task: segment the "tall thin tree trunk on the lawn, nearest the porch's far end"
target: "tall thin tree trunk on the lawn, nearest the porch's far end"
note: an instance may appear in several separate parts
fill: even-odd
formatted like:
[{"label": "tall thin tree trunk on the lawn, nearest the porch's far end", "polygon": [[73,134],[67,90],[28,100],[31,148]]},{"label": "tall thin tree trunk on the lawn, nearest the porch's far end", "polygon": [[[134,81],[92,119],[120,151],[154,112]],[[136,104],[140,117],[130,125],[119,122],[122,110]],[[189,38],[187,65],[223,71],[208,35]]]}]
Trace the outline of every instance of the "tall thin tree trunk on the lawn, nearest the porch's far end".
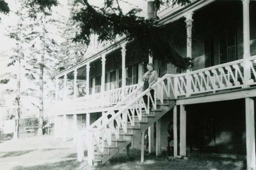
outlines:
[{"label": "tall thin tree trunk on the lawn, nearest the porch's far end", "polygon": [[43,135],[43,71],[45,60],[45,16],[43,16],[43,33],[42,33],[42,51],[40,62],[40,75],[39,75],[39,127],[38,136]]}]

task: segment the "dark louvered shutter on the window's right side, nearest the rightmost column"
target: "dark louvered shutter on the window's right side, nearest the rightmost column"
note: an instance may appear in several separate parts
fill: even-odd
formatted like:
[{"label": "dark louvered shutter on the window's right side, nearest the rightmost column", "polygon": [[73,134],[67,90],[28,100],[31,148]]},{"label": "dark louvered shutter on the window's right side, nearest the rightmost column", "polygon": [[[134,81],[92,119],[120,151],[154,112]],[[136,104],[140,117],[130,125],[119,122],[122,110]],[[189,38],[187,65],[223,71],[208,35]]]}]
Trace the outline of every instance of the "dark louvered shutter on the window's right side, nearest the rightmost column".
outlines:
[{"label": "dark louvered shutter on the window's right side, nearest the rightmost column", "polygon": [[228,45],[228,62],[237,60],[236,51],[236,31],[235,29],[227,32],[227,45]]}]

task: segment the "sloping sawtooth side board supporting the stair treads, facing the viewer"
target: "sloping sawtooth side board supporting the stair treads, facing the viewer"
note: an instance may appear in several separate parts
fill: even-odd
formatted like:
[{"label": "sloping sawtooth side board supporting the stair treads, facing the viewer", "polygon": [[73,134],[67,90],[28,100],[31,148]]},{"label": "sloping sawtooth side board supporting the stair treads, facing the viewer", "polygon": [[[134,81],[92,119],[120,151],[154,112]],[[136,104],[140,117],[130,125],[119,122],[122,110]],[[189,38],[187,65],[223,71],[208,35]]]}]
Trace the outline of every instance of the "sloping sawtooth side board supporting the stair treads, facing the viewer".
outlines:
[{"label": "sloping sawtooth side board supporting the stair treads, facing the viewer", "polygon": [[[141,136],[141,133],[145,131],[149,126],[154,124],[158,119],[160,119],[162,116],[164,116],[169,110],[171,110],[176,105],[176,102],[174,100],[169,100],[168,106],[161,106],[162,111],[152,111],[155,112],[154,117],[148,117],[147,123],[142,123],[140,125],[140,129],[133,129],[133,136],[131,138],[126,139],[125,142],[118,142],[117,148],[111,148],[109,151],[109,155],[102,155],[102,165],[106,163],[109,159],[111,159],[115,154],[117,154],[119,151],[121,151],[124,147],[126,147],[130,142],[132,142],[135,138],[138,136]],[[119,145],[120,143],[120,145]]]}]

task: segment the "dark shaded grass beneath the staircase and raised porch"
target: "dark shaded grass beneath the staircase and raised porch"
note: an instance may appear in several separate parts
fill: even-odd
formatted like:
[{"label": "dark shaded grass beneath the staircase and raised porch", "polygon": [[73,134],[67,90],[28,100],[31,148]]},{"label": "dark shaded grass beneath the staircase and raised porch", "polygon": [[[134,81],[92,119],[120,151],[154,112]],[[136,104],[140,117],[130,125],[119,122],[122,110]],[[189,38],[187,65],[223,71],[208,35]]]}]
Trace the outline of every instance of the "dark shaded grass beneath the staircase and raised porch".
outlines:
[{"label": "dark shaded grass beneath the staircase and raised porch", "polygon": [[144,162],[140,162],[140,150],[130,149],[129,158],[126,151],[116,154],[106,165],[99,165],[94,170],[113,169],[175,169],[175,170],[246,170],[246,160],[223,158],[212,155],[190,155],[189,159],[168,159],[166,155],[155,156],[145,152]]}]

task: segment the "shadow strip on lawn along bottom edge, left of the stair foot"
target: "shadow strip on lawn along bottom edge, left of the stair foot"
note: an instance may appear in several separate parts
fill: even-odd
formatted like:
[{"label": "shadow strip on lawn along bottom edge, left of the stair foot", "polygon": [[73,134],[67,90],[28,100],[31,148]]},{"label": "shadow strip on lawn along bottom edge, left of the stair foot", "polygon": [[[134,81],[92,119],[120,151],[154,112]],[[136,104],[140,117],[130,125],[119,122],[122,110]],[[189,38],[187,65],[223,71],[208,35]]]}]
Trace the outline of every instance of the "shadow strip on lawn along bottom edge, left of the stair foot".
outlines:
[{"label": "shadow strip on lawn along bottom edge, left of the stair foot", "polygon": [[76,160],[60,161],[56,163],[44,163],[35,166],[15,166],[13,170],[74,170],[80,167]]}]

